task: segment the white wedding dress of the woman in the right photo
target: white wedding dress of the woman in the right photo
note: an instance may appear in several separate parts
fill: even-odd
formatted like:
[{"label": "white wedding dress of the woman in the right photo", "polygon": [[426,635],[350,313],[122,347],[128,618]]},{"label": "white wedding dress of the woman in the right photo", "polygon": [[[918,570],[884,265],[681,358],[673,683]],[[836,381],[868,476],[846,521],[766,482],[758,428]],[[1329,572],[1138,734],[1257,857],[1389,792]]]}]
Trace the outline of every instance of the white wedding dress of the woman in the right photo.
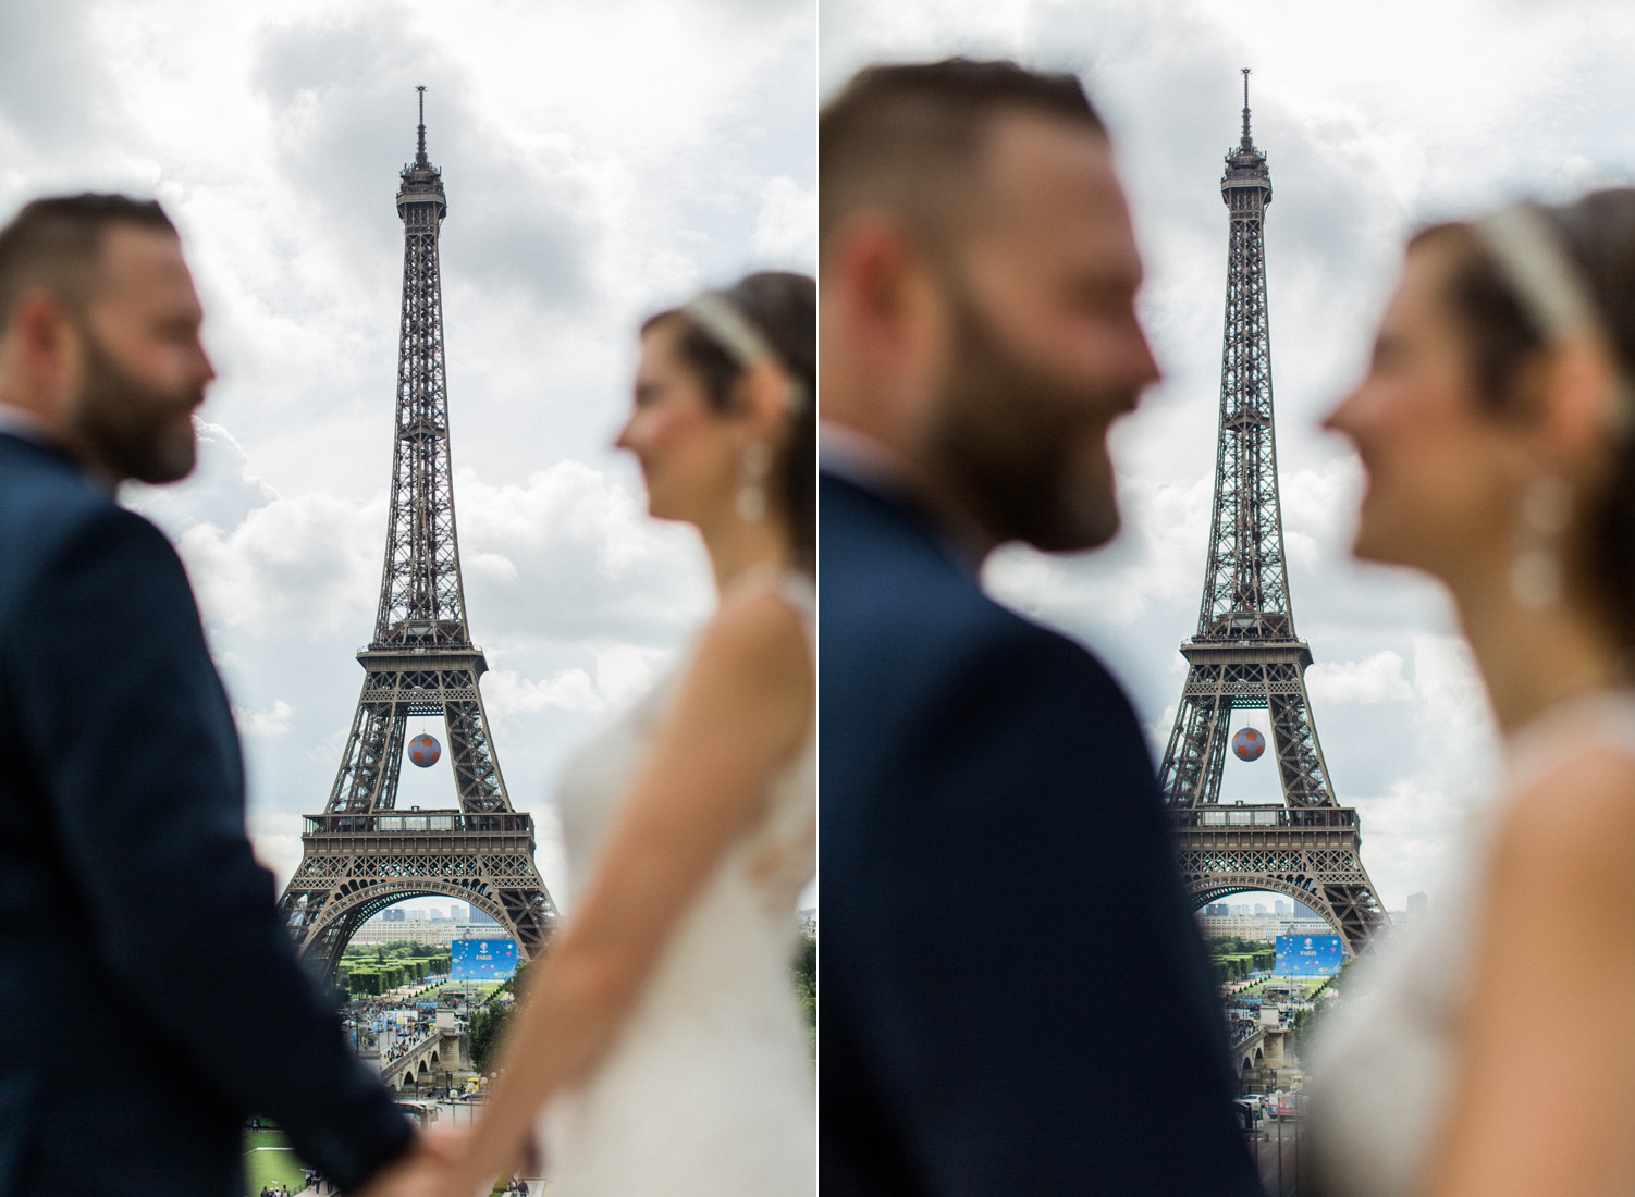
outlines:
[{"label": "white wedding dress of the woman in the right photo", "polygon": [[1635,757],[1635,695],[1563,703],[1512,736],[1499,795],[1467,829],[1462,876],[1422,926],[1357,963],[1352,988],[1362,996],[1346,999],[1310,1051],[1321,1197],[1413,1197],[1422,1187],[1452,1096],[1454,1040],[1488,908],[1491,831],[1514,795],[1589,747]]}]

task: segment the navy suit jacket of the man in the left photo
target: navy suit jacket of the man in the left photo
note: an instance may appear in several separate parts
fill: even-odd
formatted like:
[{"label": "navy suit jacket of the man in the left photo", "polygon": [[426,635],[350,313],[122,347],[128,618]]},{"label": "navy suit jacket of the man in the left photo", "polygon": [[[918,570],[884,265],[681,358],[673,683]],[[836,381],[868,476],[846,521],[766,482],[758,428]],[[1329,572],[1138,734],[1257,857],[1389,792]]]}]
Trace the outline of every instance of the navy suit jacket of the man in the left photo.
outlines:
[{"label": "navy suit jacket of the man in the left photo", "polygon": [[343,1187],[407,1146],[275,903],[175,551],[0,433],[0,1195],[242,1197],[249,1114]]}]

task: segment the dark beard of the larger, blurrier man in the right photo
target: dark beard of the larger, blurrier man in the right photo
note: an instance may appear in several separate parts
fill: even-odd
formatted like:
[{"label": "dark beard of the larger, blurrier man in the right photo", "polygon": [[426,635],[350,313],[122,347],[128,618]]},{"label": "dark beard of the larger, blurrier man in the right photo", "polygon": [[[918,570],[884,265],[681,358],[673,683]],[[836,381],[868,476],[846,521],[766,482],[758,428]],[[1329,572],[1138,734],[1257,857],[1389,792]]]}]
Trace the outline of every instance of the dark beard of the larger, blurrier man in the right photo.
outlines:
[{"label": "dark beard of the larger, blurrier man in the right photo", "polygon": [[1105,545],[1118,531],[1105,424],[1136,394],[1040,368],[956,285],[945,283],[945,296],[955,348],[925,437],[937,479],[996,543],[1051,553]]}]

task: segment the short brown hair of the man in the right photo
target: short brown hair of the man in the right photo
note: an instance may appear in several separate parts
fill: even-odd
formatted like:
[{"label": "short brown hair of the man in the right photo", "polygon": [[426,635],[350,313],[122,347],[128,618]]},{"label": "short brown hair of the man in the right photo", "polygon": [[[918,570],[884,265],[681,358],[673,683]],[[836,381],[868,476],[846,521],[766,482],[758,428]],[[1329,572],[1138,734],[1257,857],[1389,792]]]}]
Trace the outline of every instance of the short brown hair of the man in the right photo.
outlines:
[{"label": "short brown hair of the man in the right photo", "polygon": [[983,136],[1006,113],[1055,116],[1105,136],[1077,77],[1015,62],[865,67],[818,119],[818,237],[881,208],[932,242],[974,198]]}]

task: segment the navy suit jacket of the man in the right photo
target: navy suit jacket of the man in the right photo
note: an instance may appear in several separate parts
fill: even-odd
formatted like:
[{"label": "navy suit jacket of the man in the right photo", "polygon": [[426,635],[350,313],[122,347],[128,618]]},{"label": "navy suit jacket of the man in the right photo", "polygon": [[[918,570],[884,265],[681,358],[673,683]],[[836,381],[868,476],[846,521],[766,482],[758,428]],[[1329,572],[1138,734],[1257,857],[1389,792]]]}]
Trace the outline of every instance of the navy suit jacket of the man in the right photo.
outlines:
[{"label": "navy suit jacket of the man in the right photo", "polygon": [[818,577],[824,1194],[1259,1194],[1118,685],[829,474]]}]

